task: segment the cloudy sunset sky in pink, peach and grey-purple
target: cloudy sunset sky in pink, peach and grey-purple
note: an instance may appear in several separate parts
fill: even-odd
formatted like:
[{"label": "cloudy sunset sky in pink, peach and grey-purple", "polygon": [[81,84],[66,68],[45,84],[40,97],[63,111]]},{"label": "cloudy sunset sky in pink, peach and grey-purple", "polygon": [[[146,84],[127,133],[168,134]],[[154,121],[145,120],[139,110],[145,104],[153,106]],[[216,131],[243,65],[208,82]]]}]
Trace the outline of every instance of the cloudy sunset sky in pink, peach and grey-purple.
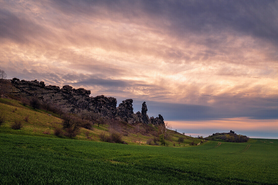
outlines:
[{"label": "cloudy sunset sky in pink, peach and grey-purple", "polygon": [[146,101],[187,135],[278,139],[278,1],[3,1],[8,78]]}]

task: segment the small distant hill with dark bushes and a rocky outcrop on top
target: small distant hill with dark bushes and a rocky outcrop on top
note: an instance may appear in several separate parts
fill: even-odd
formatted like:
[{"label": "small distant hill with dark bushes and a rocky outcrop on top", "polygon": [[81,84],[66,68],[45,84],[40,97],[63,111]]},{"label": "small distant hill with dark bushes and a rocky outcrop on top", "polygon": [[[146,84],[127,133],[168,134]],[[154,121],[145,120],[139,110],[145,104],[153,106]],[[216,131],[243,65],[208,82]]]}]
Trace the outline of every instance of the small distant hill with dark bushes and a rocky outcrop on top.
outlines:
[{"label": "small distant hill with dark bushes and a rocky outcrop on top", "polygon": [[241,134],[236,134],[234,131],[215,133],[212,136],[205,137],[204,139],[210,141],[226,141],[226,142],[247,142],[249,137],[243,136]]}]

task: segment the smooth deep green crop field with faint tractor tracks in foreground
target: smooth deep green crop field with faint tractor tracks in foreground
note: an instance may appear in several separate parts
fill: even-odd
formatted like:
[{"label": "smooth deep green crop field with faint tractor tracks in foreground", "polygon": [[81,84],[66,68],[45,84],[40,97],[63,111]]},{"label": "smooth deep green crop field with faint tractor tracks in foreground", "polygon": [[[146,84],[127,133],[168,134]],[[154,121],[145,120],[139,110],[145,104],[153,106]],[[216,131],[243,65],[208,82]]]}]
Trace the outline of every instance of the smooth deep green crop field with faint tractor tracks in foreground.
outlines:
[{"label": "smooth deep green crop field with faint tractor tracks in foreground", "polygon": [[155,147],[0,134],[0,184],[278,184],[278,140]]}]

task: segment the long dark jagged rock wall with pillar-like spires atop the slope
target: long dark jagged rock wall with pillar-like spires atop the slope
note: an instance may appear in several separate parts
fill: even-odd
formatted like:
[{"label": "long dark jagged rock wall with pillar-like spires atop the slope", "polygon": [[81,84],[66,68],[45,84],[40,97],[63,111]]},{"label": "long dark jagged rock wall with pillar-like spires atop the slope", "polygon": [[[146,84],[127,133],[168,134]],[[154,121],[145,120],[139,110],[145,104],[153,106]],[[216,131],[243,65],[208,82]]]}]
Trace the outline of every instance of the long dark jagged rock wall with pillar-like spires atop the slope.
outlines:
[{"label": "long dark jagged rock wall with pillar-like spires atop the slope", "polygon": [[117,100],[113,97],[105,97],[103,95],[90,97],[91,91],[84,88],[73,89],[69,85],[63,86],[46,86],[44,82],[37,80],[25,81],[14,78],[8,80],[11,83],[11,94],[18,97],[36,96],[40,100],[48,100],[53,104],[64,106],[69,112],[78,112],[78,109],[84,109],[94,113],[100,113],[106,117],[120,117],[124,121],[133,124],[142,122],[145,124],[164,124],[163,117],[149,119],[147,115],[146,102],[142,104],[142,114],[137,112],[134,114],[132,107],[132,99],[122,101],[117,107]]}]

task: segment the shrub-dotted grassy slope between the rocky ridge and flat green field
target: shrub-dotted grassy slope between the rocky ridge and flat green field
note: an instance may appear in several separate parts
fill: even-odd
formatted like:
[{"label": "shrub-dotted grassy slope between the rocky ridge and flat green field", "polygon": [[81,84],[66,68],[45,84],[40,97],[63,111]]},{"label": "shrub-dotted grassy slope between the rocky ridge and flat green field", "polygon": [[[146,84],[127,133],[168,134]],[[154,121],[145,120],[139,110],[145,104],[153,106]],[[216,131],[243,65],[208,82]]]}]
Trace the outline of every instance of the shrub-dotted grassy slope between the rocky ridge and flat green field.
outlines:
[{"label": "shrub-dotted grassy slope between the rocky ridge and flat green field", "polygon": [[[13,99],[12,99],[13,98]],[[59,137],[59,138],[68,138],[72,139],[81,139],[81,140],[90,140],[90,141],[102,141],[100,138],[101,132],[104,132],[106,136],[110,135],[110,131],[114,130],[121,135],[122,141],[119,143],[127,143],[134,145],[161,145],[159,142],[159,135],[162,134],[162,131],[165,131],[165,128],[158,128],[152,124],[128,124],[125,121],[122,121],[117,118],[105,119],[105,122],[102,124],[99,122],[99,114],[91,114],[90,112],[87,116],[80,116],[80,114],[66,114],[65,111],[58,112],[59,107],[63,105],[52,105],[52,108],[48,112],[41,106],[41,109],[33,109],[28,104],[23,105],[21,98],[13,97],[11,98],[0,98],[0,110],[3,111],[4,122],[0,126],[0,133],[7,134],[20,134],[20,135],[29,135],[29,136],[41,136],[41,137]],[[49,116],[51,115],[51,116]],[[79,129],[63,129],[63,118],[64,115],[69,115],[73,120],[79,120]],[[61,117],[61,118],[60,118]],[[26,121],[28,118],[28,121]],[[14,121],[21,121],[24,123],[24,127],[21,130],[11,129],[11,124]],[[100,124],[99,124],[100,123]],[[164,129],[163,129],[164,128]],[[45,134],[47,131],[48,134]],[[89,133],[89,135],[87,134]],[[195,144],[201,140],[182,135],[180,133],[175,133],[172,130],[166,130],[163,132],[165,139],[165,146],[173,147],[174,143],[176,147],[189,146],[188,144],[194,140]],[[183,137],[183,142],[178,142],[179,137]],[[114,137],[115,138],[115,137]],[[150,140],[150,142],[148,142]],[[108,139],[104,141],[118,142],[115,139]]]}]

